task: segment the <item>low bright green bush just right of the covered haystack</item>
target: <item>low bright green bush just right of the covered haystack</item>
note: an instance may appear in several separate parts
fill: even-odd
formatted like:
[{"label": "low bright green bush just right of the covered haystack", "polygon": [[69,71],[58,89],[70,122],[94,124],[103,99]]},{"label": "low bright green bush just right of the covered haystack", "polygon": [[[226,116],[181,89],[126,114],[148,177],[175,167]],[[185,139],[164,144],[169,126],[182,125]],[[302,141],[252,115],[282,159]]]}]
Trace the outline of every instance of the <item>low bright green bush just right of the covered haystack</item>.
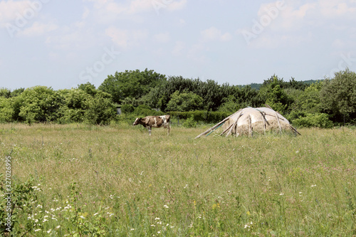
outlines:
[{"label": "low bright green bush just right of the covered haystack", "polygon": [[298,127],[333,127],[333,122],[329,120],[329,115],[325,113],[306,114],[305,117],[300,117],[292,122],[293,125]]}]

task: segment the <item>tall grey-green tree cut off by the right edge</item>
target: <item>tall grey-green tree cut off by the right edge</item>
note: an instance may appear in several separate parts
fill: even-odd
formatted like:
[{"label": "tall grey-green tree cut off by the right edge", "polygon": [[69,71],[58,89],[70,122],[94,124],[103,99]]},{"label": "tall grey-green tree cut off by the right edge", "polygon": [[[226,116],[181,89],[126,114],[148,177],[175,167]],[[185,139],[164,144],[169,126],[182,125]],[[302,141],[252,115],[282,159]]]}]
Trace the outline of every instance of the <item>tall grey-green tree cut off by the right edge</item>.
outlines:
[{"label": "tall grey-green tree cut off by the right edge", "polygon": [[349,122],[356,117],[356,73],[346,68],[335,73],[335,78],[324,81],[320,90],[323,109],[335,121]]}]

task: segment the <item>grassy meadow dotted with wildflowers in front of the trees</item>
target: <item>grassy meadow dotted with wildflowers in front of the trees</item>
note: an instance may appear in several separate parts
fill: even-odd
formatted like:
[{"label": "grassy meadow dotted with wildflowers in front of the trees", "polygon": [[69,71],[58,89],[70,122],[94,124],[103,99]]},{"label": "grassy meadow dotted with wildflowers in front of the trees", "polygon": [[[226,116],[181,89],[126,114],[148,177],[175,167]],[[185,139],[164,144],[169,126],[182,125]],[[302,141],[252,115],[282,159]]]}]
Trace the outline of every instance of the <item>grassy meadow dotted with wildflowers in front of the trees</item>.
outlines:
[{"label": "grassy meadow dotted with wildflowers in front of the trees", "polygon": [[194,139],[204,130],[0,125],[1,179],[11,157],[11,189],[30,197],[13,231],[356,236],[355,129]]}]

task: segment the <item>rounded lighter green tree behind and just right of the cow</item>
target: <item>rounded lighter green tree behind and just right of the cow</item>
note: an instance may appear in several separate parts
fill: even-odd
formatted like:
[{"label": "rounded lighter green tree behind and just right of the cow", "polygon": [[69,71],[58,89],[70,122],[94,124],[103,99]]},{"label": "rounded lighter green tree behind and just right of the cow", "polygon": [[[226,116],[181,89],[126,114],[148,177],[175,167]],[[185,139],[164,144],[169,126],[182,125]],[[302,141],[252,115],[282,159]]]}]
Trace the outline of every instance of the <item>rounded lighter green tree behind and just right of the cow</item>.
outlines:
[{"label": "rounded lighter green tree behind and just right of the cow", "polygon": [[167,105],[167,110],[172,111],[193,111],[201,110],[203,98],[192,92],[179,93],[177,90],[172,94]]}]

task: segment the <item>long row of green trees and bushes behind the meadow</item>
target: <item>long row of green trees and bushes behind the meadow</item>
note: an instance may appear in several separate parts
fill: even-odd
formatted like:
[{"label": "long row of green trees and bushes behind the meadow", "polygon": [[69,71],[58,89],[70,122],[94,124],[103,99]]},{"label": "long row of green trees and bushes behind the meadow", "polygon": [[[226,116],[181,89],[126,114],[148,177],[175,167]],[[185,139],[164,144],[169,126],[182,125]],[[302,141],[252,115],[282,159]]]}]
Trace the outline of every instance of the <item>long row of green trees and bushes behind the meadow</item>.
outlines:
[{"label": "long row of green trees and bushes behind the meadow", "polygon": [[218,120],[240,108],[265,104],[297,126],[355,124],[356,73],[346,68],[334,78],[311,84],[272,75],[256,89],[251,85],[219,85],[214,80],[167,77],[154,70],[126,70],[108,75],[98,88],[90,83],[64,90],[45,86],[14,91],[2,88],[0,122],[108,124],[120,120],[117,106],[126,115],[159,110],[192,117],[199,114],[201,120],[216,122],[207,121],[208,114],[219,115],[215,116]]}]

